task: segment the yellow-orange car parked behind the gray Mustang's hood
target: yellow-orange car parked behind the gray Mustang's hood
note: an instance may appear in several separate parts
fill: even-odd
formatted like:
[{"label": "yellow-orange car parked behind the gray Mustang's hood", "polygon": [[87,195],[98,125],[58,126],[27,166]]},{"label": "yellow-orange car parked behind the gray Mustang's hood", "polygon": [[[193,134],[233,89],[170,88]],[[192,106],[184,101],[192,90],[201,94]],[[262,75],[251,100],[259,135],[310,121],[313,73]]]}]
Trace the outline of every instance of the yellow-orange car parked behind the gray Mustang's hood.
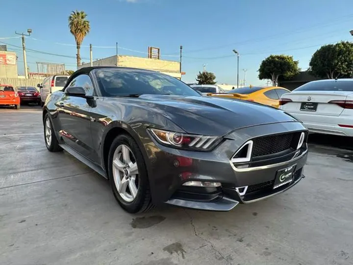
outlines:
[{"label": "yellow-orange car parked behind the gray Mustang's hood", "polygon": [[207,96],[248,100],[279,108],[279,99],[285,93],[290,93],[290,90],[279,86],[247,86],[235,88],[226,93],[209,93]]}]

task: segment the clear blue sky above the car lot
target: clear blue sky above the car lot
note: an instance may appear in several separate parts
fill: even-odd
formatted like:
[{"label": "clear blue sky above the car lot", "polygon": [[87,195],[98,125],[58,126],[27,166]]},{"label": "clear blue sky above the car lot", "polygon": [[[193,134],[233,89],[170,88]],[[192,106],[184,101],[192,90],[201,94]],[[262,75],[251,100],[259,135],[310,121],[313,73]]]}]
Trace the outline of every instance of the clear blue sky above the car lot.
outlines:
[{"label": "clear blue sky above the car lot", "polygon": [[[49,3],[50,2],[50,3]],[[20,0],[1,4],[0,38],[16,36],[32,28],[27,49],[75,56],[76,47],[67,22],[72,10],[84,10],[91,32],[83,46],[119,46],[119,54],[147,56],[148,46],[159,47],[162,58],[178,60],[183,45],[184,81],[192,82],[202,65],[220,83],[236,84],[236,57],[240,53],[240,79],[247,69],[247,84],[257,79],[261,61],[270,54],[289,54],[306,69],[312,53],[321,45],[352,40],[352,0]],[[21,39],[0,39],[21,46]],[[60,43],[60,44],[58,44]],[[2,44],[2,43],[0,43]],[[66,44],[66,45],[62,45]],[[14,50],[23,61],[21,50]],[[114,55],[115,48],[94,48],[93,57]],[[81,48],[88,62],[89,48]],[[65,63],[75,70],[75,58],[27,53],[30,71],[36,61]],[[19,63],[23,73],[23,63]]]}]

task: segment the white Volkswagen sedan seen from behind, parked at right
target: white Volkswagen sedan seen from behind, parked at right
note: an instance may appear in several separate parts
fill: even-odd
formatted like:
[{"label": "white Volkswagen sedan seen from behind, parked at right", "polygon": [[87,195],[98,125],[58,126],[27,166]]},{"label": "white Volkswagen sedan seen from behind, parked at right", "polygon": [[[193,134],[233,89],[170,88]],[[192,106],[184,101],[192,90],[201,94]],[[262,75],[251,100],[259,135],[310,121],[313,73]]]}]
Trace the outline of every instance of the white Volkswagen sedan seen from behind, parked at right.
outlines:
[{"label": "white Volkswagen sedan seen from behind, parked at right", "polygon": [[308,82],[283,94],[280,105],[310,132],[353,136],[353,79]]}]

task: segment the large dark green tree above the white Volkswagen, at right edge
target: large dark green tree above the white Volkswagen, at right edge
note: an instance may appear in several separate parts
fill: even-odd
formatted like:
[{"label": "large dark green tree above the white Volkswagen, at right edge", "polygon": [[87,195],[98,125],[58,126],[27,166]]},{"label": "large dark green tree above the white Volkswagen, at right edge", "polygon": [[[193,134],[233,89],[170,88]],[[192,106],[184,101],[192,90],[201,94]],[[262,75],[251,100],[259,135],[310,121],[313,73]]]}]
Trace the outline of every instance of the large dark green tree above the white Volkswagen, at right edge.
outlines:
[{"label": "large dark green tree above the white Volkswagen, at right edge", "polygon": [[353,43],[342,41],[322,46],[311,57],[309,71],[319,78],[346,78],[352,75]]}]

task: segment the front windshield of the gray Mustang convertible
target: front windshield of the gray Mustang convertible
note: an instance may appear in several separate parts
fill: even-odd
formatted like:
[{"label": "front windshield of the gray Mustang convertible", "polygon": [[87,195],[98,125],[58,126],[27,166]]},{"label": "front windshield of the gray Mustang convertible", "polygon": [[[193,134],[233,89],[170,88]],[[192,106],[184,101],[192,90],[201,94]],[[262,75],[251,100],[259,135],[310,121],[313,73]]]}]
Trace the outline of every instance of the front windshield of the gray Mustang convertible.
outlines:
[{"label": "front windshield of the gray Mustang convertible", "polygon": [[187,84],[174,77],[158,72],[107,68],[97,70],[96,76],[102,94],[105,97],[134,94],[167,94],[200,97],[200,94]]}]

